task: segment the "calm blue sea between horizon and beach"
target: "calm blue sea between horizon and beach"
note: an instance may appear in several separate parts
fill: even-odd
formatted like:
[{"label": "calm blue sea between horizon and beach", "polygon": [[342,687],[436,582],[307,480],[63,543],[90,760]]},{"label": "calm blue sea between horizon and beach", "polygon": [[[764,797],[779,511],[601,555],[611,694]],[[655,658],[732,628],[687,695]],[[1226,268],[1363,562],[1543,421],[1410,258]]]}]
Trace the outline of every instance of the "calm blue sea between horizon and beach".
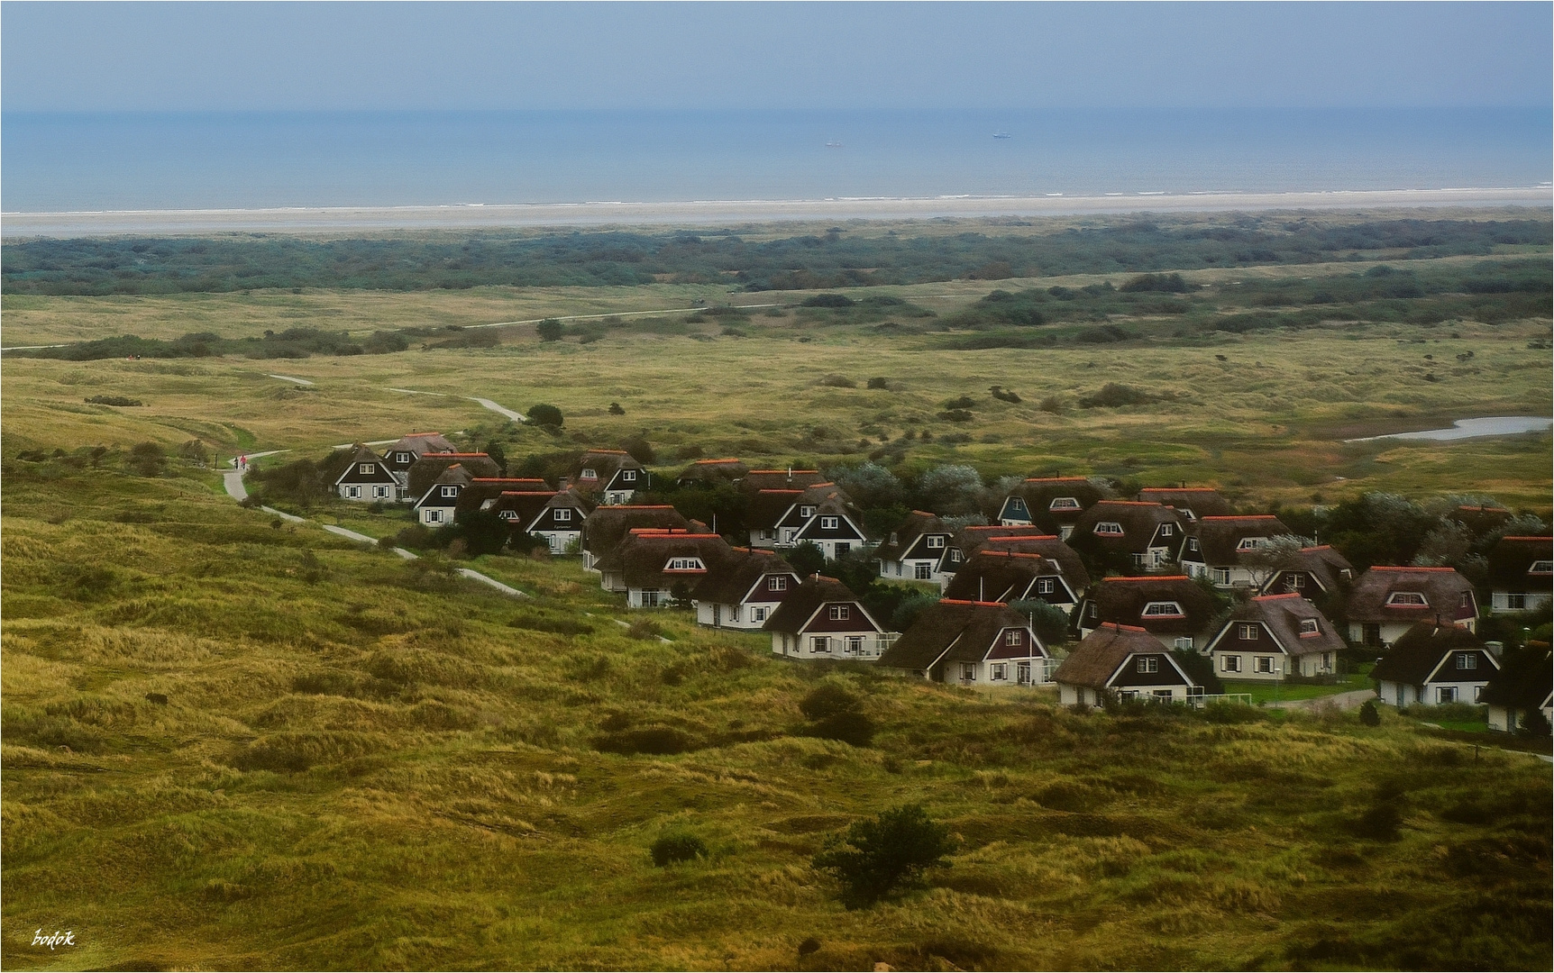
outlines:
[{"label": "calm blue sea between horizon and beach", "polygon": [[0,210],[1546,187],[1551,145],[1548,109],[6,112]]}]

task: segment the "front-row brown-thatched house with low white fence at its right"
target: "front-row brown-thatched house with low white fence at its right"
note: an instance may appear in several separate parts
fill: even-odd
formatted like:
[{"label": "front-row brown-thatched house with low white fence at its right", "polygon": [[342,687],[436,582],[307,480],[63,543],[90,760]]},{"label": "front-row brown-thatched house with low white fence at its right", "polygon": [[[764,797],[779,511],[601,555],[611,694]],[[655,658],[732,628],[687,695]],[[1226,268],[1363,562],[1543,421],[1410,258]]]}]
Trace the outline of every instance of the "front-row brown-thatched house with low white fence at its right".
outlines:
[{"label": "front-row brown-thatched house with low white fence at its right", "polygon": [[1203,685],[1136,625],[1106,622],[1085,636],[1052,673],[1063,706],[1102,706],[1108,695],[1124,699],[1187,703]]}]

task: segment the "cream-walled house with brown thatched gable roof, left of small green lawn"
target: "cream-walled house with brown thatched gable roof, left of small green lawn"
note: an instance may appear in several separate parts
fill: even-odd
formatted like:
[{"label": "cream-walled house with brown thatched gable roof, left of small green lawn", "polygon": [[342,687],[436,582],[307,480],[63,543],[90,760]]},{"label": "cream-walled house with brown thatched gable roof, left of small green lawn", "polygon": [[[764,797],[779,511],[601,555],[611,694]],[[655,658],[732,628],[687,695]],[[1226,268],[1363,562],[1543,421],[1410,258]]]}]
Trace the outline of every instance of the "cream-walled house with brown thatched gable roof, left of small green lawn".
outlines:
[{"label": "cream-walled house with brown thatched gable roof, left of small green lawn", "polygon": [[1296,594],[1240,602],[1207,653],[1221,679],[1332,676],[1344,640],[1321,611]]}]

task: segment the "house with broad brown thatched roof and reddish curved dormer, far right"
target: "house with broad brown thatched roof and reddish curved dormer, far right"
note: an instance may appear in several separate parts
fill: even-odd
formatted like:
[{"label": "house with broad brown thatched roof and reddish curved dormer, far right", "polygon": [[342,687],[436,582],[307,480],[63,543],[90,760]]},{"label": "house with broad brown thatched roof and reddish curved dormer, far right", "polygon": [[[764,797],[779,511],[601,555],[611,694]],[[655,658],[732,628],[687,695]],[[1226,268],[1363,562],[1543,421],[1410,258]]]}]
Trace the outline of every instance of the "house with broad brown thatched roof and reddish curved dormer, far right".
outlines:
[{"label": "house with broad brown thatched roof and reddish curved dormer, far right", "polygon": [[1478,595],[1451,567],[1377,566],[1355,578],[1346,616],[1349,642],[1386,648],[1419,622],[1476,631]]}]

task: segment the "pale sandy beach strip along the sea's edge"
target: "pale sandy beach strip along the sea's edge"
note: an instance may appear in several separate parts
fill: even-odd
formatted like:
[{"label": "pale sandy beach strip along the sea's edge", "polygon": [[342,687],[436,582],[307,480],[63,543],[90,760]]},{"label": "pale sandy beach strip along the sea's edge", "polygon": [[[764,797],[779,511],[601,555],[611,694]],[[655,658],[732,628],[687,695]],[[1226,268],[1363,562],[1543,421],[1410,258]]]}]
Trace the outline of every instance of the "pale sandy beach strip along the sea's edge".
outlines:
[{"label": "pale sandy beach strip along the sea's edge", "polygon": [[1549,187],[1190,193],[1106,196],[940,196],[788,201],[578,202],[438,207],[284,207],[253,210],[101,210],[0,213],[0,236],[127,233],[331,233],[547,225],[701,225],[805,219],[940,219],[1228,210],[1549,207]]}]

